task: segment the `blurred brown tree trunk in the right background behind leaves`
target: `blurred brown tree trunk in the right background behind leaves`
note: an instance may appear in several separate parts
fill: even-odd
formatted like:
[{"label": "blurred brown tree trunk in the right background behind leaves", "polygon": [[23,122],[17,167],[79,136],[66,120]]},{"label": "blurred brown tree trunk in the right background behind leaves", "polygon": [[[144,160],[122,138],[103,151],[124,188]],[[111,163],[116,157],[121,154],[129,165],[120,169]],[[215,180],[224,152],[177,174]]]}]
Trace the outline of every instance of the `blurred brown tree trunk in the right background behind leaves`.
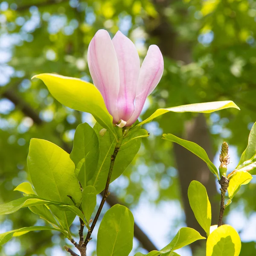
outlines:
[{"label": "blurred brown tree trunk in the right background behind leaves", "polygon": [[[146,29],[152,38],[157,39],[157,45],[160,47],[163,55],[188,64],[192,62],[191,44],[189,44],[189,42],[179,41],[179,35],[174,31],[172,24],[164,15],[164,9],[168,5],[171,6],[174,2],[175,1],[172,0],[154,0],[160,17],[157,17],[155,21],[149,18],[148,22],[145,22],[148,24],[146,25]],[[186,10],[181,9],[180,13],[181,15],[186,15]],[[212,143],[206,119],[203,114],[198,115],[194,120],[185,124],[183,138],[201,145],[201,147],[207,151],[209,158],[213,160]],[[192,180],[198,180],[206,186],[212,204],[212,220],[213,223],[216,223],[218,220],[219,204],[214,200],[217,193],[215,177],[209,171],[206,163],[176,143],[174,143],[174,153],[180,180],[181,196],[186,214],[186,223],[188,227],[195,228],[201,234],[205,235],[189,206],[187,190]],[[200,241],[192,244],[193,252],[195,252],[195,248],[199,244]]]}]

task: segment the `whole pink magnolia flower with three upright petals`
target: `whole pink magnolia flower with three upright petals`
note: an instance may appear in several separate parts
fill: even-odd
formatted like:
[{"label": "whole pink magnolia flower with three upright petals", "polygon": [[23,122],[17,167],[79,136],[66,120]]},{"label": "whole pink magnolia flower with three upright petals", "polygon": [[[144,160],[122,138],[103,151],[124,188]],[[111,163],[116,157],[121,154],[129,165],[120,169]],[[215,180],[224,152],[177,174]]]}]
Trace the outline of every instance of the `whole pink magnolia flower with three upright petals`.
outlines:
[{"label": "whole pink magnolia flower with three upright petals", "polygon": [[140,67],[139,54],[129,38],[118,31],[111,40],[108,32],[100,29],[89,44],[88,66],[113,123],[121,120],[130,126],[163,75],[163,56],[151,45]]}]

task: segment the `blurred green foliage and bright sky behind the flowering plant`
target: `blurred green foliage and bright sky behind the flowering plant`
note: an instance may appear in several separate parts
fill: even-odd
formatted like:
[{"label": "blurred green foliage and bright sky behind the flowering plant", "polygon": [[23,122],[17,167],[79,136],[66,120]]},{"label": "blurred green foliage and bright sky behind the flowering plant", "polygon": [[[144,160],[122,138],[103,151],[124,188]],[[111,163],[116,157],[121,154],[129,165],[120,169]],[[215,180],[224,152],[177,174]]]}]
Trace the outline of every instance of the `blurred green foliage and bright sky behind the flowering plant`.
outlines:
[{"label": "blurred green foliage and bright sky behind the flowering plant", "polygon": [[[164,55],[163,78],[148,98],[142,119],[157,108],[233,100],[241,111],[207,115],[167,113],[145,125],[150,137],[112,195],[128,205],[135,221],[160,249],[188,225],[200,230],[188,206],[191,180],[207,186],[215,223],[218,184],[207,166],[177,145],[161,140],[173,133],[202,145],[218,165],[223,141],[230,145],[232,171],[247,145],[256,121],[256,1],[254,0],[5,0],[0,3],[0,201],[19,198],[12,190],[29,180],[29,140],[43,138],[67,151],[76,126],[95,122],[59,104],[44,84],[31,77],[58,73],[91,81],[87,48],[98,29],[117,30],[134,41],[140,56],[150,44]],[[225,222],[240,233],[241,256],[256,255],[256,183],[242,187],[227,208]],[[100,199],[100,198],[99,198]],[[105,207],[107,208],[107,207]],[[105,209],[106,210],[106,209]],[[29,209],[0,216],[1,233],[44,224]],[[77,235],[79,221],[72,231]],[[201,234],[204,235],[203,231]],[[138,234],[138,236],[140,236]],[[95,255],[95,238],[88,248]],[[148,243],[145,242],[145,244]],[[0,248],[3,256],[67,255],[58,233],[35,232]],[[134,249],[147,245],[134,240]],[[180,250],[182,256],[203,256],[205,241]],[[133,254],[132,254],[133,255]]]}]

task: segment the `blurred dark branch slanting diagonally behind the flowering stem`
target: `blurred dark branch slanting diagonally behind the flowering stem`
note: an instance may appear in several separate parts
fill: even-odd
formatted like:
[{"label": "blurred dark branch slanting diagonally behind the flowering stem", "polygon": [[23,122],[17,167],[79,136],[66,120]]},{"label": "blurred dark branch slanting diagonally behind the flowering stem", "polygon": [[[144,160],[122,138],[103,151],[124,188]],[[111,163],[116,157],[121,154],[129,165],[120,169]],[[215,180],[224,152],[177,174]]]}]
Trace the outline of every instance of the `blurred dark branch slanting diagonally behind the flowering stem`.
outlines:
[{"label": "blurred dark branch slanting diagonally behind the flowering stem", "polygon": [[[20,110],[23,112],[25,116],[29,116],[35,124],[38,126],[44,125],[44,121],[40,118],[38,113],[29,105],[27,102],[25,102],[22,98],[16,95],[16,93],[13,90],[7,90],[2,95],[0,95],[6,99],[9,99],[12,101],[16,107],[19,107]],[[60,137],[59,134],[56,133],[56,136]],[[61,140],[61,138],[60,138]],[[65,143],[63,140],[62,145],[65,151],[68,153],[71,152],[70,146]],[[122,204],[115,195],[111,194],[106,199],[107,203],[112,207],[114,204]],[[123,205],[123,204],[122,204]],[[80,228],[81,230],[81,228]],[[83,228],[82,228],[83,230]],[[79,233],[80,236],[80,233]],[[143,230],[140,229],[140,227],[137,225],[136,222],[134,222],[134,236],[137,238],[137,240],[140,242],[142,247],[147,251],[157,250],[157,247],[152,243],[152,241],[148,238],[148,236],[143,232]],[[81,239],[81,236],[80,236]]]}]

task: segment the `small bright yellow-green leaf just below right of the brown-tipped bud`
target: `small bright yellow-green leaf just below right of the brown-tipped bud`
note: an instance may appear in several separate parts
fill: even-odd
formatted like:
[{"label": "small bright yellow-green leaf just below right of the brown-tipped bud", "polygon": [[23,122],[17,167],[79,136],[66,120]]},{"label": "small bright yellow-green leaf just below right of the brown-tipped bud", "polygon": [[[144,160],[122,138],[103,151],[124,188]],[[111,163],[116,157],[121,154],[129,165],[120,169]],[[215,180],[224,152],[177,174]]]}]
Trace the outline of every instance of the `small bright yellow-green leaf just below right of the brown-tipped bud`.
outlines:
[{"label": "small bright yellow-green leaf just below right of the brown-tipped bud", "polygon": [[231,204],[233,197],[239,191],[241,185],[248,184],[252,178],[249,172],[236,172],[233,175],[227,187],[228,197],[230,199],[227,201],[226,206]]}]

